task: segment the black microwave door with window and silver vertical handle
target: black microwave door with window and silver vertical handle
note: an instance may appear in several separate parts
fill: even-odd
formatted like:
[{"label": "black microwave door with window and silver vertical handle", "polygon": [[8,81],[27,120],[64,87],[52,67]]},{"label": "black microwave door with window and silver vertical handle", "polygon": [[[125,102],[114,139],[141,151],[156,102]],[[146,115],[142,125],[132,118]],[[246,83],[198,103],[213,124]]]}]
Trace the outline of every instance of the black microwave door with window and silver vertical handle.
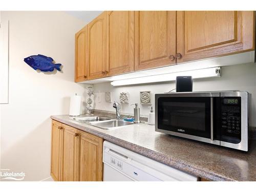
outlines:
[{"label": "black microwave door with window and silver vertical handle", "polygon": [[157,129],[171,135],[182,134],[182,137],[196,140],[200,137],[213,142],[218,136],[214,125],[218,118],[215,115],[218,114],[216,101],[217,98],[212,97],[160,97]]}]

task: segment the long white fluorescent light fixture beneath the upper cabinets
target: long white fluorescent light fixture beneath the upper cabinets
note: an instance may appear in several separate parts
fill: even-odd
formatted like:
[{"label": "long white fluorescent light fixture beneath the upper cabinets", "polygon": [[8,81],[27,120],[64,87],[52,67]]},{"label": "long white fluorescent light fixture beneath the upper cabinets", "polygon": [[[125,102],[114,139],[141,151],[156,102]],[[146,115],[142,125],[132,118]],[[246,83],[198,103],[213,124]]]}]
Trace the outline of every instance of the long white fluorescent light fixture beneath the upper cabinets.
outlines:
[{"label": "long white fluorescent light fixture beneath the upper cabinets", "polygon": [[161,75],[150,75],[150,76],[144,76],[144,77],[122,79],[122,80],[112,81],[111,84],[112,86],[126,86],[130,84],[173,81],[173,80],[176,80],[177,76],[192,76],[193,79],[206,78],[206,77],[220,77],[221,68],[214,67],[214,68],[206,68],[206,69],[199,69],[199,70],[181,71],[176,73],[166,73]]}]

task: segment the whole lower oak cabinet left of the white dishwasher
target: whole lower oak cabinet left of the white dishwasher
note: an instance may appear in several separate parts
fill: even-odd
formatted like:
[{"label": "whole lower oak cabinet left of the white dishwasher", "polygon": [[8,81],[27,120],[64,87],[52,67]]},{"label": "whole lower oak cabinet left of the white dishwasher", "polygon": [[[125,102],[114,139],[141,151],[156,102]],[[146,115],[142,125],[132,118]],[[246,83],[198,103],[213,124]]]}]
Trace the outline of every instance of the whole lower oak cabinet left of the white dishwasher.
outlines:
[{"label": "whole lower oak cabinet left of the white dishwasher", "polygon": [[52,121],[51,176],[55,181],[102,181],[103,139]]}]

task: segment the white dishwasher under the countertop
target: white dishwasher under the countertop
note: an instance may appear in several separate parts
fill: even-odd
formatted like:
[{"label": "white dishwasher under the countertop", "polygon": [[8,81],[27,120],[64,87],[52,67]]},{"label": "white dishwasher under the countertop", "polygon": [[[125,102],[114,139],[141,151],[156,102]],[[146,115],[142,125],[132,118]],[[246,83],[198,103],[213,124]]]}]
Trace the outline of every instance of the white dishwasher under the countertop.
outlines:
[{"label": "white dishwasher under the countertop", "polygon": [[197,181],[196,176],[139,155],[108,141],[103,143],[104,181]]}]

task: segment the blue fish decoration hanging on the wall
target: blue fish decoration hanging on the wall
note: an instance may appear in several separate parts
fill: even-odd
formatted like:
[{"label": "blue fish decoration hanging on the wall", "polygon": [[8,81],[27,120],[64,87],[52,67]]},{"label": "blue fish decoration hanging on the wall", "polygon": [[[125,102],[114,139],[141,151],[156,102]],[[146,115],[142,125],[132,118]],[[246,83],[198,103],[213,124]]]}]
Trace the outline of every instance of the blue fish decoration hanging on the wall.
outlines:
[{"label": "blue fish decoration hanging on the wall", "polygon": [[60,63],[53,63],[53,59],[51,57],[47,57],[45,55],[31,55],[24,59],[24,61],[32,67],[34,70],[39,69],[40,71],[53,71],[54,69],[57,69],[58,71],[61,71]]}]

